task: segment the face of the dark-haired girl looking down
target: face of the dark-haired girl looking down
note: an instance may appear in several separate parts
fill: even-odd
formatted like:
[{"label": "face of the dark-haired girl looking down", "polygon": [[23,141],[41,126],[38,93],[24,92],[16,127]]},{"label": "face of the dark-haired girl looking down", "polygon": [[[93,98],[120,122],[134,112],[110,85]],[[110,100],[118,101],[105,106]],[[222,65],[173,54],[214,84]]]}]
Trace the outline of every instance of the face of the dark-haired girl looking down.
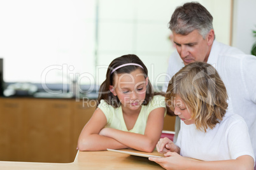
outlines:
[{"label": "face of the dark-haired girl looking down", "polygon": [[136,69],[129,74],[118,74],[114,77],[114,86],[110,86],[110,91],[117,96],[122,107],[137,110],[146,97],[146,85],[148,77],[141,69]]}]

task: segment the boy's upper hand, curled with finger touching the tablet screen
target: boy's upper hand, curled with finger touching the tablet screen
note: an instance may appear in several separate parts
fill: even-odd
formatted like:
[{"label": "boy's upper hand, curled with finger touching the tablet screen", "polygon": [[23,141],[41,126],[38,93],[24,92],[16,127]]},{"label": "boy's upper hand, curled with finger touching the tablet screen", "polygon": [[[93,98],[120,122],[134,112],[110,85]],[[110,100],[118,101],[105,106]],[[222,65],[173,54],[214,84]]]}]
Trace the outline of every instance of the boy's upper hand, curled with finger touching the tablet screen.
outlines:
[{"label": "boy's upper hand, curled with finger touching the tablet screen", "polygon": [[157,143],[157,152],[161,154],[165,154],[167,152],[177,152],[180,154],[180,148],[177,147],[173,141],[169,140],[169,138],[160,138]]}]

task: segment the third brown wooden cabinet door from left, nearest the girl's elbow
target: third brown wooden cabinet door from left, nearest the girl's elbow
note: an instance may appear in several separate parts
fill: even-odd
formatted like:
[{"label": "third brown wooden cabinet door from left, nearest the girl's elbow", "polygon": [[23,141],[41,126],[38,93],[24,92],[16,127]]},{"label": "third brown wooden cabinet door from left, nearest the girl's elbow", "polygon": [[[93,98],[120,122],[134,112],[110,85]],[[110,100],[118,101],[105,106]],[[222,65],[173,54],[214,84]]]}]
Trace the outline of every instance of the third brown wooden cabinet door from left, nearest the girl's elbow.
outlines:
[{"label": "third brown wooden cabinet door from left, nearest the girl's elbow", "polygon": [[71,145],[71,102],[52,100],[46,102],[46,136],[48,155],[52,162],[73,162],[70,160]]}]

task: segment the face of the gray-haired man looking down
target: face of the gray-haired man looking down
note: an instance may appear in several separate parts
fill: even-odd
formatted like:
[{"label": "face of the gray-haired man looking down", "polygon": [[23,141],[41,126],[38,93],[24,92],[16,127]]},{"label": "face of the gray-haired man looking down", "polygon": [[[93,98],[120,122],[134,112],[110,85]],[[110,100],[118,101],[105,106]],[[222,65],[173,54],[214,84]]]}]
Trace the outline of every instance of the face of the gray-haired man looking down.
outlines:
[{"label": "face of the gray-haired man looking down", "polygon": [[173,32],[173,41],[185,65],[192,62],[207,62],[213,39],[213,30],[205,39],[199,34],[198,30],[193,30],[186,36]]}]

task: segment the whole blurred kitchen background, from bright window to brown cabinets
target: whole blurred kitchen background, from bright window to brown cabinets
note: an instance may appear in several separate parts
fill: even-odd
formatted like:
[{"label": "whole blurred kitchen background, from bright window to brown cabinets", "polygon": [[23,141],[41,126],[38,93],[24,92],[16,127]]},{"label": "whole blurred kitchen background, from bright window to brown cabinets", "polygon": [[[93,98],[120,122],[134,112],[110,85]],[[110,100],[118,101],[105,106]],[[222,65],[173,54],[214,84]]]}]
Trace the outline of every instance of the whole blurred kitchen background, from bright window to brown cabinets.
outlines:
[{"label": "whole blurred kitchen background, from bright window to brown cabinets", "polygon": [[[138,55],[160,88],[175,50],[167,23],[185,2],[0,0],[0,160],[73,162],[97,88],[118,56]],[[216,39],[249,54],[256,1],[199,3],[213,15]],[[164,130],[174,131],[174,121],[166,115]]]}]

